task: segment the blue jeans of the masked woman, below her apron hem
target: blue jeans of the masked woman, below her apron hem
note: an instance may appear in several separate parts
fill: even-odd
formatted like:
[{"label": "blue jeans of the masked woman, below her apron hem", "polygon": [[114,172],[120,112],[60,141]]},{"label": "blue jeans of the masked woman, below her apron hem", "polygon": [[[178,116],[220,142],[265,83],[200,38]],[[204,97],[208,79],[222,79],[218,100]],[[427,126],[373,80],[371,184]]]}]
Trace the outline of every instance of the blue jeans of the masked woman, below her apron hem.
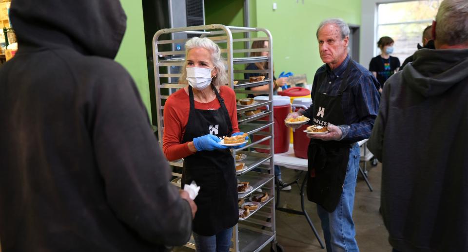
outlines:
[{"label": "blue jeans of the masked woman, below her apron hem", "polygon": [[225,229],[212,236],[194,234],[196,252],[229,252],[233,228]]}]

